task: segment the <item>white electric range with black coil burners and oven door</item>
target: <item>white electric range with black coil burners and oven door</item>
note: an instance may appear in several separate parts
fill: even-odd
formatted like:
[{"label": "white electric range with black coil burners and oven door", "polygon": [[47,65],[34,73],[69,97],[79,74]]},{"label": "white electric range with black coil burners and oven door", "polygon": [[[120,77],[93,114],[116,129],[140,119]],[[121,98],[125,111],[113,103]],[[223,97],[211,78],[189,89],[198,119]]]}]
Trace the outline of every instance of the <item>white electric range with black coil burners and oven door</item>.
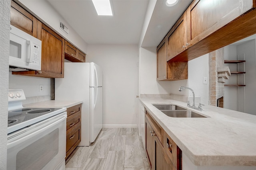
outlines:
[{"label": "white electric range with black coil burners and oven door", "polygon": [[64,170],[66,108],[22,107],[22,89],[9,89],[7,169]]}]

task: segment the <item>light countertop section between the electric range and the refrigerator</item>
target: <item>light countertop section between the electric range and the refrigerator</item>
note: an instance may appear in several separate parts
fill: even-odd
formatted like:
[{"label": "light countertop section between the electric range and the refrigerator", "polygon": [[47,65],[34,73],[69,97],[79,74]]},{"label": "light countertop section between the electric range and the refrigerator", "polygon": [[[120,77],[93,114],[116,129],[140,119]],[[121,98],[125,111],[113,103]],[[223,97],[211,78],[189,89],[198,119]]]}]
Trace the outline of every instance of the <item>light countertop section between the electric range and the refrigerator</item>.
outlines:
[{"label": "light countertop section between the electric range and the refrigerator", "polygon": [[44,102],[36,102],[31,104],[24,104],[23,107],[72,107],[83,103],[83,101],[72,100],[48,100]]}]

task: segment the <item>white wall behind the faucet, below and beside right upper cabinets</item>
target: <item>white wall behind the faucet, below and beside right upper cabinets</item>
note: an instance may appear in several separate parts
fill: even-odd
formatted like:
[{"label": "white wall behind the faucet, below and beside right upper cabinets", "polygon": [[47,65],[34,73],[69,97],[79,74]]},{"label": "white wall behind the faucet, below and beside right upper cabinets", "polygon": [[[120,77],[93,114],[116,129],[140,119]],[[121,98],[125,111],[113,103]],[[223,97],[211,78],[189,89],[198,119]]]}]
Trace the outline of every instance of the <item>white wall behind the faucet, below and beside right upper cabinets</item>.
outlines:
[{"label": "white wall behind the faucet, below and beside right upper cabinets", "polygon": [[[203,77],[209,78],[208,54],[188,62],[188,80],[156,81],[156,48],[140,48],[140,94],[177,94],[193,96],[190,90],[179,92],[180,86],[190,87],[195,96],[208,104],[209,84],[203,84]],[[192,102],[192,101],[190,101]]]}]

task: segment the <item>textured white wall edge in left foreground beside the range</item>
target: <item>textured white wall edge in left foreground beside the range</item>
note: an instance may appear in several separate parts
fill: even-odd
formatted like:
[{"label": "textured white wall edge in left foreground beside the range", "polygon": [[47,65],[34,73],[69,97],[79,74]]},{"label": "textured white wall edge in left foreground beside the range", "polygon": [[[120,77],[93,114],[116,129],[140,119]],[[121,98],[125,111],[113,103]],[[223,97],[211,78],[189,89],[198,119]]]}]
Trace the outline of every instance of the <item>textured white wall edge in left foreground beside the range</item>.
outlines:
[{"label": "textured white wall edge in left foreground beside the range", "polygon": [[0,169],[6,169],[10,0],[0,0]]}]

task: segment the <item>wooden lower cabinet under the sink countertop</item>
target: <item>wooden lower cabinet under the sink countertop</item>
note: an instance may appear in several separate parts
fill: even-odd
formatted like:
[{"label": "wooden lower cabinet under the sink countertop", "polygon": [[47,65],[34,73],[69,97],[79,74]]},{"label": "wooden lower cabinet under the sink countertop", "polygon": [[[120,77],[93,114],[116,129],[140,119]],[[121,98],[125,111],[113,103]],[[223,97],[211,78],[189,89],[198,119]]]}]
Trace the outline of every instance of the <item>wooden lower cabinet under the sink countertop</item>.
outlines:
[{"label": "wooden lower cabinet under the sink countertop", "polygon": [[[151,170],[182,170],[182,152],[146,111],[145,143]],[[150,123],[151,122],[151,123]],[[160,129],[158,129],[161,128]],[[163,139],[163,140],[162,140]],[[162,142],[161,142],[162,141]],[[169,147],[167,147],[167,143]]]}]

